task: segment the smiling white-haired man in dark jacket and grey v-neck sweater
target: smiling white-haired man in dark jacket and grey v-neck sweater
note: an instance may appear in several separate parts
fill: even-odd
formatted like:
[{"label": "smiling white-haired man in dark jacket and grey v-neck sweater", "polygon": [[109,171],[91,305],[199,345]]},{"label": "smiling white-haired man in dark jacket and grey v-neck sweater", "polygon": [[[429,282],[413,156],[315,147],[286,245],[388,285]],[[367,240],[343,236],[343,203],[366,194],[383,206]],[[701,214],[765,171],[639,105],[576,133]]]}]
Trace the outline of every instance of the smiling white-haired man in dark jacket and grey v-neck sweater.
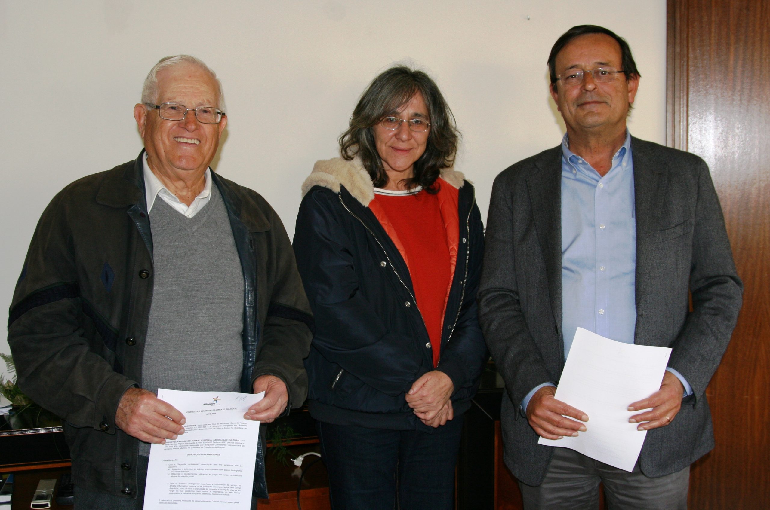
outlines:
[{"label": "smiling white-haired man in dark jacket and grey v-neck sweater", "polygon": [[144,150],[59,192],[29,246],[8,343],[62,417],[75,508],[142,508],[149,445],[184,433],[158,388],[264,391],[260,422],[305,399],[310,307],[273,208],[209,168],[223,108],[206,64],[163,58],[134,107]]}]

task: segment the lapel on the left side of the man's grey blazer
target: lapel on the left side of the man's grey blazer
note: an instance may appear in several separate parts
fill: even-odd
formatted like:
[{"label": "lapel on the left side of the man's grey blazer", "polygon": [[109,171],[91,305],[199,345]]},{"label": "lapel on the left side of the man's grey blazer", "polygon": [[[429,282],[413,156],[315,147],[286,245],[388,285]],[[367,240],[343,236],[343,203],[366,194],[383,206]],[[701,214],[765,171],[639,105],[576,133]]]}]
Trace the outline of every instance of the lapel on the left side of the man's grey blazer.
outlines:
[{"label": "lapel on the left side of the man's grey blazer", "polygon": [[559,338],[561,359],[561,145],[542,152],[534,162],[537,170],[527,176],[532,216],[545,260],[548,294]]}]

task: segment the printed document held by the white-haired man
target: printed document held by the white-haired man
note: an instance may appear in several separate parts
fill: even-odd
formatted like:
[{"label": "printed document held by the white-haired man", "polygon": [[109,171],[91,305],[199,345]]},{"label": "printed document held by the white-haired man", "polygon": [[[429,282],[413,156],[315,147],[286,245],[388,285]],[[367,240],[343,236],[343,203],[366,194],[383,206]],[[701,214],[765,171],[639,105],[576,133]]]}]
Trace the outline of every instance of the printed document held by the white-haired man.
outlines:
[{"label": "printed document held by the white-haired man", "polygon": [[159,389],[185,433],[150,447],[144,510],[249,510],[259,422],[243,415],[264,395]]}]

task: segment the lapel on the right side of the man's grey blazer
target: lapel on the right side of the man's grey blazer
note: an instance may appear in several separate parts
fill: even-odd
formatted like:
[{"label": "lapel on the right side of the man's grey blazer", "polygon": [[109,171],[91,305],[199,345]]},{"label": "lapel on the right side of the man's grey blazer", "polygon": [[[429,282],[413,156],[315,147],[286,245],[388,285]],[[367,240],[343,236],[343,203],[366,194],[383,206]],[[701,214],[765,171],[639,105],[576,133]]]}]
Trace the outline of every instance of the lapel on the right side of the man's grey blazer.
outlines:
[{"label": "lapel on the right side of the man's grey blazer", "polygon": [[[644,319],[644,296],[654,294],[648,288],[651,278],[656,271],[651,261],[657,260],[651,257],[649,252],[653,246],[651,235],[660,228],[661,215],[665,215],[665,162],[655,157],[651,145],[644,140],[631,137],[631,151],[634,158],[634,208],[636,210],[636,281],[634,293],[636,295],[636,330],[634,331],[634,343],[640,345],[654,345],[654,338],[648,338]],[[641,319],[641,320],[639,320]]]}]

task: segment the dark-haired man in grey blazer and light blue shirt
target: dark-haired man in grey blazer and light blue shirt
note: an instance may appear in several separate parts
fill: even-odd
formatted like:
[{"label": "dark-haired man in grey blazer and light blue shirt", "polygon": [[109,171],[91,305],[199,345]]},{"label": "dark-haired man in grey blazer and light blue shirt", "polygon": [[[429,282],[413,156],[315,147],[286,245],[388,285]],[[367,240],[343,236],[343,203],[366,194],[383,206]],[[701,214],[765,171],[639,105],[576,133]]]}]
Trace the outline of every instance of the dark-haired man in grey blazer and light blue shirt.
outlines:
[{"label": "dark-haired man in grey blazer and light blue shirt", "polygon": [[[686,508],[689,466],[714,444],[706,385],[742,301],[718,198],[700,158],[628,133],[640,75],[622,38],[571,28],[548,65],[567,134],[495,179],[479,291],[505,462],[524,508],[597,508],[600,481],[610,508]],[[554,398],[577,327],[672,349],[660,390],[629,402],[649,431],[633,472],[537,444],[591,427]]]}]

